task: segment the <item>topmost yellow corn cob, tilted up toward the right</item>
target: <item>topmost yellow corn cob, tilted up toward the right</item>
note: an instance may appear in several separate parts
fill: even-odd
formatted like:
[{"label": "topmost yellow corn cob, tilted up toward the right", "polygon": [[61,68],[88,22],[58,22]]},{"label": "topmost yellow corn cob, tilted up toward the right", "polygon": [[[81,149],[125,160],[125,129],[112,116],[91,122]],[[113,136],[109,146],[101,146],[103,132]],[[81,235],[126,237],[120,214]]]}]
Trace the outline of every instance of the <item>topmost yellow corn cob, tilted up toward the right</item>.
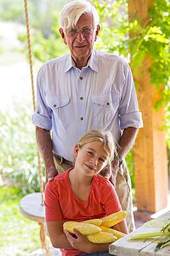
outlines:
[{"label": "topmost yellow corn cob, tilted up toward the right", "polygon": [[102,219],[101,226],[110,228],[116,225],[117,223],[119,223],[120,221],[123,221],[123,219],[125,219],[126,217],[127,217],[127,212],[125,210],[110,214],[107,217],[104,217]]}]

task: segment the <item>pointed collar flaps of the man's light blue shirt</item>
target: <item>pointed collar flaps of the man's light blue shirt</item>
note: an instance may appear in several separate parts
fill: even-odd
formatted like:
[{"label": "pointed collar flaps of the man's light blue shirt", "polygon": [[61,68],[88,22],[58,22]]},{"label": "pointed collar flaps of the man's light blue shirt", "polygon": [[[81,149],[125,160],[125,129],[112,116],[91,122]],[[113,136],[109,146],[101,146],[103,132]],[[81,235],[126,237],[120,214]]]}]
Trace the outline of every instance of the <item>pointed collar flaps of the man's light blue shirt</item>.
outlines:
[{"label": "pointed collar flaps of the man's light blue shirt", "polygon": [[[92,51],[92,55],[89,57],[87,66],[92,68],[94,71],[98,72],[98,57],[97,57],[96,50]],[[66,62],[65,62],[64,72],[69,71],[70,68],[72,68],[72,67],[75,67],[75,63],[74,63],[74,60],[72,59],[72,55],[69,54],[67,59],[66,59]]]}]

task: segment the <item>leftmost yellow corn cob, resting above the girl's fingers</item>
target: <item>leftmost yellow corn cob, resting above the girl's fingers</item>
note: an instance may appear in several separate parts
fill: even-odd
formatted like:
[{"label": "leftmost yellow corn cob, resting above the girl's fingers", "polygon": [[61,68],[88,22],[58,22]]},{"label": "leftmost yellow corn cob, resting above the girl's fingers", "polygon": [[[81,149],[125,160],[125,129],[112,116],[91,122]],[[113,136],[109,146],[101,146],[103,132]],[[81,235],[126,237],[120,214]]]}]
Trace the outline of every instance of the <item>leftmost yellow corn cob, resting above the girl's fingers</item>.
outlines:
[{"label": "leftmost yellow corn cob, resting above the girl's fingers", "polygon": [[71,233],[74,233],[74,228],[76,228],[82,235],[94,235],[101,231],[101,228],[89,223],[66,221],[63,224],[63,229],[66,229]]}]

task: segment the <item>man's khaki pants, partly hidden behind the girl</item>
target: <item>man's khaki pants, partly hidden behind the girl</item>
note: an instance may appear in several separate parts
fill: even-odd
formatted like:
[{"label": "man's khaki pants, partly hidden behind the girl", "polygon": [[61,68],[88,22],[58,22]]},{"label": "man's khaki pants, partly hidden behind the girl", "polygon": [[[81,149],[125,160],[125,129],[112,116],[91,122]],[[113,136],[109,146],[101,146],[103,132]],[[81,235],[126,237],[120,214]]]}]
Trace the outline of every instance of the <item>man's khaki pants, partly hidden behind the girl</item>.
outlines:
[{"label": "man's khaki pants, partly hidden behind the girl", "polygon": [[[59,174],[62,172],[65,172],[65,170],[72,167],[65,163],[61,164],[61,161],[55,156],[54,156],[54,164]],[[127,211],[127,218],[126,218],[127,228],[129,232],[132,232],[135,230],[135,223],[134,223],[132,194],[131,194],[131,179],[130,179],[130,175],[127,170],[127,165],[125,161],[123,161],[123,164],[120,166],[118,170],[118,174],[116,176],[116,192],[118,194],[118,199],[120,201],[122,209]]]}]

